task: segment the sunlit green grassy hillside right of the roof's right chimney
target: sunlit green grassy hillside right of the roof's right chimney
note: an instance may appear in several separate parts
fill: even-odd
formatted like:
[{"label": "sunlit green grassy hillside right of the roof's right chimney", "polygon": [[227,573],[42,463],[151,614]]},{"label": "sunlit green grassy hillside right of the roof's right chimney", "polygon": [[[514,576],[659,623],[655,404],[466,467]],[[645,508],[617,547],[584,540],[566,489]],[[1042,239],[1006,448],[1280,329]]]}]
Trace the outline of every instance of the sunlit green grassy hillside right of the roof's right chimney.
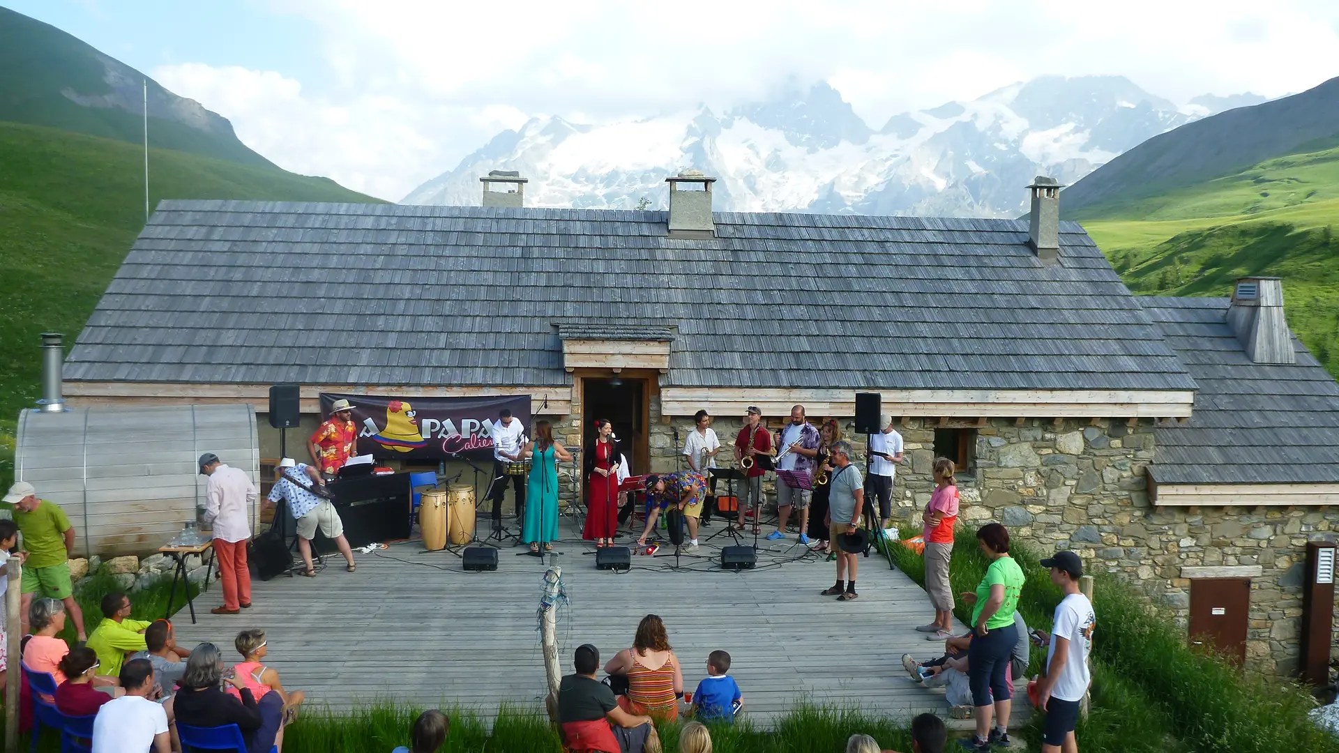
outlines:
[{"label": "sunlit green grassy hillside right of the roof's right chimney", "polygon": [[1083,224],[1137,293],[1225,296],[1240,276],[1283,277],[1288,324],[1339,376],[1335,143],[1314,142],[1232,176],[1065,217]]}]

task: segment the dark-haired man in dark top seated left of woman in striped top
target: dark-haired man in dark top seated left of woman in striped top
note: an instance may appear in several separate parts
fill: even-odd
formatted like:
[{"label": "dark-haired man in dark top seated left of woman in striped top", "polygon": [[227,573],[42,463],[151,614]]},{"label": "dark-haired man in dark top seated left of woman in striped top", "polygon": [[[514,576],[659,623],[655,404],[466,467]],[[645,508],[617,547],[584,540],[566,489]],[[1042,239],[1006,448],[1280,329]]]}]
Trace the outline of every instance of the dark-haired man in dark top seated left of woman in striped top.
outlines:
[{"label": "dark-haired man in dark top seated left of woman in striped top", "polygon": [[[640,753],[659,749],[651,717],[632,715],[613,698],[613,690],[595,678],[600,667],[600,650],[585,643],[577,646],[576,674],[558,685],[558,724],[569,750],[601,753]],[[655,742],[648,740],[655,738]]]}]

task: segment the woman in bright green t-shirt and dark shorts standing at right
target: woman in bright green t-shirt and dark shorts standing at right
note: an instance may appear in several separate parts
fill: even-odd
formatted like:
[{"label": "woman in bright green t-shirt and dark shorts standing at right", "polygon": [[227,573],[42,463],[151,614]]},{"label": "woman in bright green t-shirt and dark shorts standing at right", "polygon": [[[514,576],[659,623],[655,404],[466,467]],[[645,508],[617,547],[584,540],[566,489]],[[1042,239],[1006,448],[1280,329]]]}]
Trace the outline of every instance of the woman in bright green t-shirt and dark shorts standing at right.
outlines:
[{"label": "woman in bright green t-shirt and dark shorts standing at right", "polygon": [[[972,607],[973,635],[967,650],[967,679],[972,687],[972,705],[976,706],[975,742],[977,749],[990,750],[991,745],[1008,745],[1010,699],[1014,694],[1007,673],[1018,643],[1014,610],[1027,579],[1014,557],[1008,556],[1008,531],[1003,525],[983,525],[976,539],[991,565],[986,568],[976,594],[963,594],[961,599]],[[995,729],[991,729],[992,711],[998,721]]]}]

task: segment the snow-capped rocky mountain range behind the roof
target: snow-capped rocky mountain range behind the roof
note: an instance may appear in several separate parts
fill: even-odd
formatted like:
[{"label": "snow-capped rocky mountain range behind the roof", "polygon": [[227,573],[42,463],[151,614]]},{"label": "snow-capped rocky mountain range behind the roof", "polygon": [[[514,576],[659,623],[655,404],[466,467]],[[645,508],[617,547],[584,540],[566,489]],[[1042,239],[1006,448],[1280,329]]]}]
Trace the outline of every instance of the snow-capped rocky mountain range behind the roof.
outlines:
[{"label": "snow-capped rocky mountain range behind the roof", "polygon": [[708,107],[635,122],[534,118],[407,197],[479,204],[479,177],[518,170],[528,206],[631,209],[665,202],[664,178],[719,181],[718,210],[1014,217],[1034,176],[1073,184],[1149,137],[1210,114],[1185,111],[1123,76],[1042,76],[971,102],[894,115],[874,131],[826,83],[723,114]]}]

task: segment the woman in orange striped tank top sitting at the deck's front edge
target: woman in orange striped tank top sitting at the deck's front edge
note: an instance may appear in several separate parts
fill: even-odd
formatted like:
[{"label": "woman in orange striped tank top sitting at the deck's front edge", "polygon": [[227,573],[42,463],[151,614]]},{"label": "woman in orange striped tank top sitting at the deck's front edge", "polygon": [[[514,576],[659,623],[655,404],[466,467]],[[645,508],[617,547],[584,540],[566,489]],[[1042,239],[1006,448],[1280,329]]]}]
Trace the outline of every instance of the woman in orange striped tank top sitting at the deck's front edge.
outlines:
[{"label": "woman in orange striped tank top sitting at the deck's front edge", "polygon": [[624,711],[665,721],[679,718],[683,673],[659,616],[641,618],[632,648],[619,651],[604,666],[604,671],[628,678],[628,694],[619,697],[619,706]]}]

